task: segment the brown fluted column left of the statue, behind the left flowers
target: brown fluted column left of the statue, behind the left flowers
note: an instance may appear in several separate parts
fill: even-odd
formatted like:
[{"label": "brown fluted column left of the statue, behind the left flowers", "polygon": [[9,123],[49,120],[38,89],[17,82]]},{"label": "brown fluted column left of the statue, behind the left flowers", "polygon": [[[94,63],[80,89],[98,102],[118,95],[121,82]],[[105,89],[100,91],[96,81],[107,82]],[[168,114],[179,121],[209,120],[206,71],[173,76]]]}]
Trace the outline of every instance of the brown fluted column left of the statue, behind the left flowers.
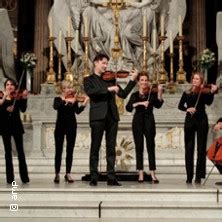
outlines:
[{"label": "brown fluted column left of the statue, behind the left flowers", "polygon": [[34,52],[38,58],[37,66],[33,75],[33,91],[40,92],[40,84],[45,82],[48,67],[49,47],[48,14],[51,8],[51,0],[38,0],[35,7],[35,41]]}]

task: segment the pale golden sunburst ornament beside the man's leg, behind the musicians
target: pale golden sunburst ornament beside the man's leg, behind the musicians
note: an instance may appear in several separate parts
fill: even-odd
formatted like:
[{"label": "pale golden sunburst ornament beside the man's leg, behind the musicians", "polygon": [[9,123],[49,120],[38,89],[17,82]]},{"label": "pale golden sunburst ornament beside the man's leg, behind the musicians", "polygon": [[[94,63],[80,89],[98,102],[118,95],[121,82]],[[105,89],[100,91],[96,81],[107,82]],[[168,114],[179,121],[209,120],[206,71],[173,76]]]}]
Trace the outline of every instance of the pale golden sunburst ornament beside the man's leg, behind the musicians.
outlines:
[{"label": "pale golden sunburst ornament beside the man's leg, behind the musicians", "polygon": [[133,159],[130,151],[133,149],[132,142],[122,138],[119,145],[116,146],[116,164],[122,170],[127,170],[130,166],[130,161]]}]

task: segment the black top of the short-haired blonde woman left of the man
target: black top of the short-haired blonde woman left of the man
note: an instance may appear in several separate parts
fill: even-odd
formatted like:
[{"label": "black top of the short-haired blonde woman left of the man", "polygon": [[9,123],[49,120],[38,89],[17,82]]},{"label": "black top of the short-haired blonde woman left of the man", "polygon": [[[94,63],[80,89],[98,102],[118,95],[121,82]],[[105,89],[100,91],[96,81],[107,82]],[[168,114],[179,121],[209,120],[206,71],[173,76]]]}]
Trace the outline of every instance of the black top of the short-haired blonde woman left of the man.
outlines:
[{"label": "black top of the short-haired blonde woman left of the man", "polygon": [[73,129],[77,127],[75,113],[81,113],[85,106],[78,102],[66,104],[61,97],[55,97],[53,108],[57,110],[56,129]]}]

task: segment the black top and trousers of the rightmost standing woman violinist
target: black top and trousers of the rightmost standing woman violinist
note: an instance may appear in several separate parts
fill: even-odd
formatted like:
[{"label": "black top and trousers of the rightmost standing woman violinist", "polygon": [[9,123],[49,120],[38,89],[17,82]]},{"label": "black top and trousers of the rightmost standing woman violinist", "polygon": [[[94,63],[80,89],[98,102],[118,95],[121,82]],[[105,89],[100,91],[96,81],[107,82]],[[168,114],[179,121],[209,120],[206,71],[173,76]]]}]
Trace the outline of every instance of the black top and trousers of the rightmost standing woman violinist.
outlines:
[{"label": "black top and trousers of the rightmost standing woman violinist", "polygon": [[[198,94],[193,92],[184,92],[178,108],[184,112],[190,107],[195,107]],[[184,124],[185,140],[185,164],[187,172],[187,181],[192,181],[194,174],[194,147],[195,133],[197,134],[197,163],[196,179],[205,178],[206,174],[206,146],[208,135],[208,117],[205,111],[205,105],[211,105],[214,94],[201,94],[196,106],[196,112],[191,115],[186,113]]]}]

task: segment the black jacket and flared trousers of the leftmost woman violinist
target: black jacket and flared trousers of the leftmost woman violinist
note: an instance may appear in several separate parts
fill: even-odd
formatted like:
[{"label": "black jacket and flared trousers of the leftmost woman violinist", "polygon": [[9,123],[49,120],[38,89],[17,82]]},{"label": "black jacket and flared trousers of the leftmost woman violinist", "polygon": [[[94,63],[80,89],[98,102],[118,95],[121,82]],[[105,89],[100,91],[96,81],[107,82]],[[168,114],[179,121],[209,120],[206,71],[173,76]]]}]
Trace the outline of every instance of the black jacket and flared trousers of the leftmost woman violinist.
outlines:
[{"label": "black jacket and flared trousers of the leftmost woman violinist", "polygon": [[27,108],[27,99],[17,100],[13,112],[8,112],[7,108],[13,105],[13,100],[5,100],[0,106],[1,115],[1,135],[5,149],[6,177],[7,183],[14,181],[14,169],[12,162],[12,144],[11,137],[14,137],[19,160],[19,173],[22,182],[29,182],[27,164],[23,147],[23,125],[20,118],[20,111],[25,112]]}]

